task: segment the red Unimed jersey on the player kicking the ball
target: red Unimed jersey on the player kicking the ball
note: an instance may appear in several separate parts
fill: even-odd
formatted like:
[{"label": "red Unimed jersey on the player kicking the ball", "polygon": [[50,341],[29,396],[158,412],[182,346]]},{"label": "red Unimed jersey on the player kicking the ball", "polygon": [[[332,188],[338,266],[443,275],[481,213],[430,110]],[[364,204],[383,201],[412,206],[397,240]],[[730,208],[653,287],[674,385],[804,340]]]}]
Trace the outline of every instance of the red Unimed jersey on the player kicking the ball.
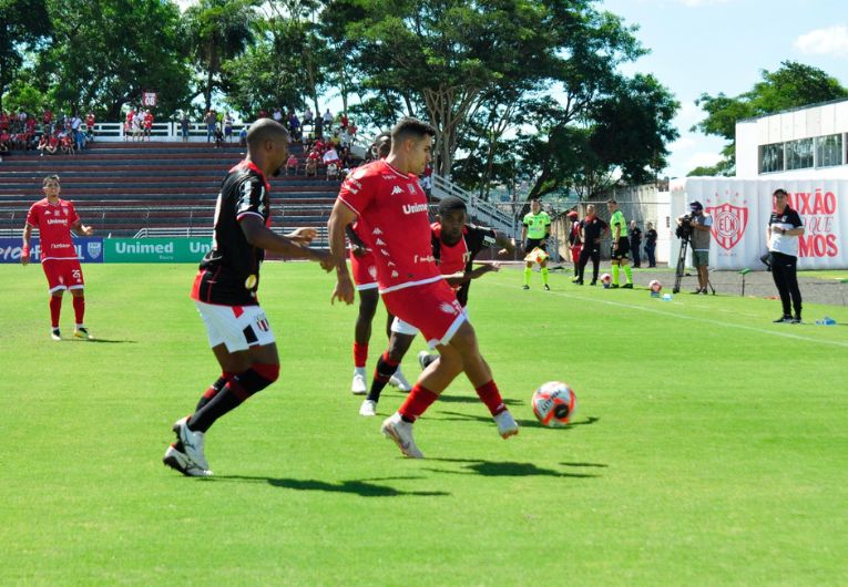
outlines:
[{"label": "red Unimed jersey on the player kicking the ball", "polygon": [[347,176],[338,199],[359,217],[357,233],[374,250],[380,292],[442,278],[430,244],[427,196],[416,175],[375,161]]}]

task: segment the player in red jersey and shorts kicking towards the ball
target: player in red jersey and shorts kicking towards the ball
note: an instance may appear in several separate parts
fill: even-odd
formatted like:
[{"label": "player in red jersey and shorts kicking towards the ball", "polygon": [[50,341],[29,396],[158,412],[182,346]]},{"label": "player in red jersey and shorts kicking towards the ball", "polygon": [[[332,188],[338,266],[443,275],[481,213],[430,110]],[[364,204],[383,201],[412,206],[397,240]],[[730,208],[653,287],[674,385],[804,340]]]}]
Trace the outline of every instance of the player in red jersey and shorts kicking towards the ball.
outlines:
[{"label": "player in red jersey and shorts kicking towards the ball", "polygon": [[330,251],[337,261],[331,300],[354,302],[354,285],[345,264],[345,227],[361,223],[366,243],[377,259],[377,281],[388,310],[420,329],[440,358],[418,378],[400,409],[382,422],[382,433],[401,452],[421,459],[412,424],[463,372],[498,424],[504,439],[518,424],[503,404],[492,372],[480,354],[477,334],[457,296],[433,262],[427,197],[418,183],[430,161],[436,131],[415,119],[391,131],[391,153],[348,175],[328,223]]}]

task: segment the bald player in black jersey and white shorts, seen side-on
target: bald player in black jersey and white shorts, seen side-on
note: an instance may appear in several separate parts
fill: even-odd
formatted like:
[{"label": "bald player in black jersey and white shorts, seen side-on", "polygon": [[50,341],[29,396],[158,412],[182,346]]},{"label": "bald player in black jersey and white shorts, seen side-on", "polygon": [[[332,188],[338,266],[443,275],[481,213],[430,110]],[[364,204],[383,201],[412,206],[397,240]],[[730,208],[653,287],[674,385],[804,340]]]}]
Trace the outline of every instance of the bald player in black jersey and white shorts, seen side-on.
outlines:
[{"label": "bald player in black jersey and white shorts, seen side-on", "polygon": [[201,261],[192,298],[222,373],[195,412],[173,425],[177,441],[165,451],[163,462],[184,475],[212,474],[203,451],[206,431],[279,375],[274,333],[256,299],[265,251],[315,260],[327,271],[335,267],[328,251],[307,246],[315,229],[298,228],[280,236],[269,228],[266,177],[278,175],[286,164],[288,141],[288,132],[279,123],[256,121],[247,133],[247,156],[221,185],[212,250]]}]

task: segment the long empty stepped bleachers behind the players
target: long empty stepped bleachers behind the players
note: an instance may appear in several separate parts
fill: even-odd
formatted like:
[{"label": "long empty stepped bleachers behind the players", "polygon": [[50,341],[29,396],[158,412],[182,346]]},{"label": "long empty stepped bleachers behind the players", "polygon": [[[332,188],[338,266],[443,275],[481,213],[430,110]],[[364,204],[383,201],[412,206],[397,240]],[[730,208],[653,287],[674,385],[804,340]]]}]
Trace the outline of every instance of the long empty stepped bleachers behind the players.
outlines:
[{"label": "long empty stepped bleachers behind the players", "polygon": [[[303,159],[299,144],[292,152]],[[72,200],[96,234],[133,237],[168,229],[207,235],[221,181],[244,158],[237,144],[94,142],[75,156],[16,153],[0,163],[0,236],[18,236],[27,210],[43,197],[45,175],[58,174],[64,199]],[[272,177],[272,223],[276,228],[326,227],[339,182]]]}]

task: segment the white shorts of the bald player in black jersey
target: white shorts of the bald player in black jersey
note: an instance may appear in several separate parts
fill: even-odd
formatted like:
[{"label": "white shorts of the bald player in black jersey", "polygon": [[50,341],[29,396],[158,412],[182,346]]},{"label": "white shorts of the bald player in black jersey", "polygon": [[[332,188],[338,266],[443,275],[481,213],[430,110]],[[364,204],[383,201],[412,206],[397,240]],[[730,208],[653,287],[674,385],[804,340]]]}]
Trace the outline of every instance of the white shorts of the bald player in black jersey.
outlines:
[{"label": "white shorts of the bald player in black jersey", "polygon": [[206,325],[210,347],[223,343],[227,351],[237,352],[275,341],[260,306],[216,306],[196,300],[194,303]]}]

